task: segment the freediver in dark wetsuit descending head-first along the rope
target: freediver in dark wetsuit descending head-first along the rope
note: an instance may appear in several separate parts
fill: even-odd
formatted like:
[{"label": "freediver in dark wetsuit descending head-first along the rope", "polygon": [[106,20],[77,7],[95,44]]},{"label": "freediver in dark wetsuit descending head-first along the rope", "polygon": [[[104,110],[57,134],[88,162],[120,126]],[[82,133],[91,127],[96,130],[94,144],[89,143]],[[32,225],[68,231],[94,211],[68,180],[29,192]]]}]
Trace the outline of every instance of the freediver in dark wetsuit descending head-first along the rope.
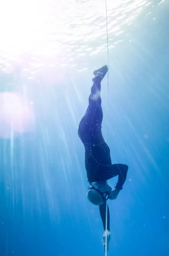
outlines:
[{"label": "freediver in dark wetsuit descending head-first along the rope", "polygon": [[[88,200],[99,206],[104,227],[103,247],[106,238],[106,200],[114,200],[123,189],[127,177],[128,166],[112,164],[110,148],[104,141],[101,132],[103,111],[101,108],[101,81],[108,71],[107,65],[93,72],[93,85],[89,96],[89,105],[79,123],[78,135],[85,146],[85,168],[90,185],[87,190]],[[118,182],[113,189],[107,180],[118,175]],[[110,212],[107,208],[107,250],[110,242]]]}]

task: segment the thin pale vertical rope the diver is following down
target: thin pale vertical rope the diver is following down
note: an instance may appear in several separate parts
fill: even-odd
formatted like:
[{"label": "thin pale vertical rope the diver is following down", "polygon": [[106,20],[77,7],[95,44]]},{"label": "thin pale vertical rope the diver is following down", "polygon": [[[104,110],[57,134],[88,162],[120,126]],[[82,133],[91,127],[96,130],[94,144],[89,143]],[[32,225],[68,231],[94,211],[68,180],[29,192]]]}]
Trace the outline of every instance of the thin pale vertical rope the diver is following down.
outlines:
[{"label": "thin pale vertical rope the diver is following down", "polygon": [[[105,0],[106,3],[106,30],[107,30],[107,66],[109,68],[109,41],[108,41],[108,26],[107,26],[107,0]],[[108,95],[109,95],[109,70],[107,73],[107,145],[108,145]],[[105,256],[107,256],[107,208],[108,204],[106,201],[106,237],[105,237]]]}]

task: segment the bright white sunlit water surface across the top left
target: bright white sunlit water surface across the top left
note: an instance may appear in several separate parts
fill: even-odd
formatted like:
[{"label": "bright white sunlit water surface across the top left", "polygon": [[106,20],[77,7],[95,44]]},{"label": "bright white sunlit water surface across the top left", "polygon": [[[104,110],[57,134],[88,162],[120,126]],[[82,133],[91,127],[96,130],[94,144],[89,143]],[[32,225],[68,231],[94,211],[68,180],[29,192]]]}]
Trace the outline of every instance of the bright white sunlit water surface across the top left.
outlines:
[{"label": "bright white sunlit water surface across the top left", "polygon": [[[138,15],[146,0],[107,0],[111,31]],[[124,14],[123,14],[124,12]],[[0,57],[23,52],[50,55],[63,44],[105,34],[105,0],[6,0],[0,6]],[[100,20],[98,22],[98,19]],[[98,31],[101,28],[100,32]],[[119,26],[120,28],[120,26]],[[98,33],[99,32],[99,33]]]}]

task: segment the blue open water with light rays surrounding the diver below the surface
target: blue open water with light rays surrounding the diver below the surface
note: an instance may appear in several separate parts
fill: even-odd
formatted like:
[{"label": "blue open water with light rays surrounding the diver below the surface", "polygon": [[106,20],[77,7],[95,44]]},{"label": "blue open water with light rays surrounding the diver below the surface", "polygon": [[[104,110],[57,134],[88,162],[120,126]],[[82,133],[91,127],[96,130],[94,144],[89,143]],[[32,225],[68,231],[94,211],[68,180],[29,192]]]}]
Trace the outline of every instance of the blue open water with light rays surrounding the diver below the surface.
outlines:
[{"label": "blue open water with light rays surrounding the diver below the surface", "polygon": [[[129,166],[124,189],[109,202],[108,255],[169,255],[169,2],[158,3],[109,49],[108,123],[107,77],[102,82],[103,134],[108,125],[112,162]],[[0,92],[19,91],[34,103],[36,129],[0,140],[0,256],[104,255],[77,128],[107,52],[75,62],[51,71],[62,77],[57,82],[46,79],[45,66],[36,83],[1,73]]]}]

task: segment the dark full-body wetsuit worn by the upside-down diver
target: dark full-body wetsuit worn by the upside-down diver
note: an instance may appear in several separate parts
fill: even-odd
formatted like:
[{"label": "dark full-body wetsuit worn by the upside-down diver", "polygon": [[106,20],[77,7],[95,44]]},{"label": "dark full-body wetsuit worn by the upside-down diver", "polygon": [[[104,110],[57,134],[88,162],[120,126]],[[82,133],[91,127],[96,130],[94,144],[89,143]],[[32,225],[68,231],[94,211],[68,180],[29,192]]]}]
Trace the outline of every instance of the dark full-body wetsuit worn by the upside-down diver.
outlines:
[{"label": "dark full-body wetsuit worn by the upside-down diver", "polygon": [[[93,79],[93,86],[89,96],[89,105],[85,116],[79,124],[78,135],[85,146],[85,167],[89,183],[93,181],[109,180],[118,175],[116,188],[122,189],[124,181],[127,177],[128,166],[125,164],[113,164],[110,157],[110,148],[105,143],[102,132],[101,123],[103,119],[103,111],[101,108],[101,79],[96,77]],[[105,209],[102,204],[100,214],[105,230]],[[110,215],[108,209],[108,225],[110,230]]]}]

